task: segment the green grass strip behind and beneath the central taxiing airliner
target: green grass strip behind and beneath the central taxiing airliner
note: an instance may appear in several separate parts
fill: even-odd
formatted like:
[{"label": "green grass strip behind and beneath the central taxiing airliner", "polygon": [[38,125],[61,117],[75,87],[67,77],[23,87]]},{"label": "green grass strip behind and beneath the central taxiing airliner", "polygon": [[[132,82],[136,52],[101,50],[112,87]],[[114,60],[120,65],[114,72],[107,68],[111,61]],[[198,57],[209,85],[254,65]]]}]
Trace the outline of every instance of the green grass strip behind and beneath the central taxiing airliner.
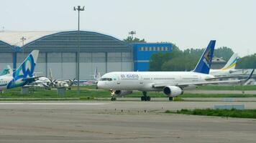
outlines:
[{"label": "green grass strip behind and beneath the central taxiing airliner", "polygon": [[[210,86],[209,86],[210,87]],[[214,86],[212,86],[214,87]],[[5,90],[4,93],[0,94],[0,99],[5,98],[77,98],[77,99],[94,99],[96,97],[110,97],[111,94],[109,91],[104,90],[97,90],[95,86],[86,86],[81,87],[81,94],[77,94],[76,87],[72,87],[71,90],[67,90],[64,95],[58,95],[56,89],[52,90],[45,90],[41,88],[37,88],[35,90],[30,89],[29,94],[21,94],[20,93],[21,88],[14,88],[14,89],[8,89]],[[165,94],[163,92],[148,92],[147,94],[150,97],[165,97]],[[141,97],[142,92],[133,92],[132,94],[129,94],[127,97]],[[251,94],[183,94],[179,97],[175,98],[175,101],[183,101],[181,98],[186,97],[256,97],[256,95]]]}]

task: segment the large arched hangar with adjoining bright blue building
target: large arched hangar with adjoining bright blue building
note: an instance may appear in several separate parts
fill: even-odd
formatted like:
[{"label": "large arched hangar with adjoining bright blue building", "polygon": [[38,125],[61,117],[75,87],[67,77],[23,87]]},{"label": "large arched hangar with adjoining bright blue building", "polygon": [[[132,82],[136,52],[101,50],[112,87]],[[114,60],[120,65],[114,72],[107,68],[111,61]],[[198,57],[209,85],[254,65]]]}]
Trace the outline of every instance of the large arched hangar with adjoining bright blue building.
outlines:
[{"label": "large arched hangar with adjoining bright blue building", "polygon": [[80,79],[93,79],[96,67],[101,75],[109,71],[147,71],[152,54],[172,51],[170,43],[128,44],[93,31],[3,31],[0,68],[9,64],[16,69],[30,51],[39,49],[38,76],[49,77],[52,69],[54,79],[73,79],[79,35]]}]

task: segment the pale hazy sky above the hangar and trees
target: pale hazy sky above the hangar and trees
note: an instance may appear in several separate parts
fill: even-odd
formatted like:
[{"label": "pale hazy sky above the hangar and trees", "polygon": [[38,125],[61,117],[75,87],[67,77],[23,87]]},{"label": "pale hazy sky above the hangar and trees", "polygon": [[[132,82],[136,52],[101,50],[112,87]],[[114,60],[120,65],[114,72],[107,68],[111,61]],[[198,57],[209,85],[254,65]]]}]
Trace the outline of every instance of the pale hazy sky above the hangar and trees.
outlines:
[{"label": "pale hazy sky above the hangar and trees", "polygon": [[216,39],[239,56],[256,53],[254,0],[1,0],[4,31],[81,30],[125,39],[129,31],[147,42],[168,41],[180,49],[204,48]]}]

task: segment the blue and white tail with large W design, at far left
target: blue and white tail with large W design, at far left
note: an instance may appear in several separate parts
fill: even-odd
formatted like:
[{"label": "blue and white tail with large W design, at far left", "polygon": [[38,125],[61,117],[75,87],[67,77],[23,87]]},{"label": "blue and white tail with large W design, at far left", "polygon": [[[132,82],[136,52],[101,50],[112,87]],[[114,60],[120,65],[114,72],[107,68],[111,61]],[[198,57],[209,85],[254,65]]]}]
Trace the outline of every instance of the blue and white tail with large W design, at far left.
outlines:
[{"label": "blue and white tail with large W design, at far left", "polygon": [[29,56],[19,65],[18,69],[14,71],[12,74],[13,80],[9,82],[7,85],[7,89],[12,87],[22,86],[25,79],[32,78],[35,71],[35,65],[37,64],[37,57],[39,54],[39,50],[32,51]]}]

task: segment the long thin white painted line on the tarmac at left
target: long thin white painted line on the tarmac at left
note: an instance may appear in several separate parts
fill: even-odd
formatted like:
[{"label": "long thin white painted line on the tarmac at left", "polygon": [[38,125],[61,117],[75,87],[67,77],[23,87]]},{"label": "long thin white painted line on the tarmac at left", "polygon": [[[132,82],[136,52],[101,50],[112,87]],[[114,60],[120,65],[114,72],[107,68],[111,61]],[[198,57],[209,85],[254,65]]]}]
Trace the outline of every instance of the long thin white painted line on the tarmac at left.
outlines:
[{"label": "long thin white painted line on the tarmac at left", "polygon": [[22,102],[16,102],[16,103],[1,103],[0,105],[106,105],[109,103],[22,103]]}]

